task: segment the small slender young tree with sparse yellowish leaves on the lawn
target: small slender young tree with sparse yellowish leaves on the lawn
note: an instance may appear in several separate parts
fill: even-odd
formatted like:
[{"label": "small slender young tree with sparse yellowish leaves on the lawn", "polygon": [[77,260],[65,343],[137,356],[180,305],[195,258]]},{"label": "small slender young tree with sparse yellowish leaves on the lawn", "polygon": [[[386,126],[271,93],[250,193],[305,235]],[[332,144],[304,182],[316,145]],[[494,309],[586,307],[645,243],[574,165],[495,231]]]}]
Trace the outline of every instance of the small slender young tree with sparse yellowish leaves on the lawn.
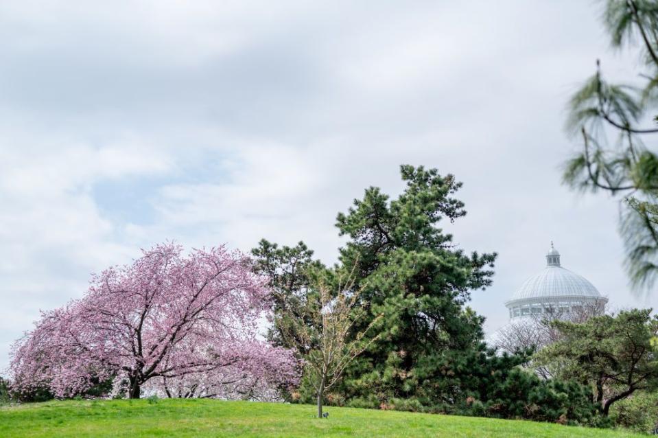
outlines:
[{"label": "small slender young tree with sparse yellowish leaves on the lawn", "polygon": [[353,275],[344,283],[339,278],[335,293],[320,281],[308,291],[303,309],[284,311],[279,317],[283,337],[303,358],[305,373],[316,391],[318,418],[322,418],[325,392],[338,382],[347,365],[379,337],[366,338],[366,334],[381,315],[364,330],[354,332],[355,321],[367,309],[360,299],[361,289],[353,286]]}]

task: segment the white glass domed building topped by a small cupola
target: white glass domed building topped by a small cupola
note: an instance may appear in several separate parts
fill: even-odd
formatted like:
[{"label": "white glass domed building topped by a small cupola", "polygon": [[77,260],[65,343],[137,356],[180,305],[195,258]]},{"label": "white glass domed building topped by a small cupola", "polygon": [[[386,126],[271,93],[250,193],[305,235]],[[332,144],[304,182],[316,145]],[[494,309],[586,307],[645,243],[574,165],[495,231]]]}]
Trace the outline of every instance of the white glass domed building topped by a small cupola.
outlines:
[{"label": "white glass domed building topped by a small cupola", "polygon": [[569,314],[607,301],[587,279],[560,265],[560,253],[551,242],[544,270],[521,284],[505,306],[513,321],[524,316]]}]

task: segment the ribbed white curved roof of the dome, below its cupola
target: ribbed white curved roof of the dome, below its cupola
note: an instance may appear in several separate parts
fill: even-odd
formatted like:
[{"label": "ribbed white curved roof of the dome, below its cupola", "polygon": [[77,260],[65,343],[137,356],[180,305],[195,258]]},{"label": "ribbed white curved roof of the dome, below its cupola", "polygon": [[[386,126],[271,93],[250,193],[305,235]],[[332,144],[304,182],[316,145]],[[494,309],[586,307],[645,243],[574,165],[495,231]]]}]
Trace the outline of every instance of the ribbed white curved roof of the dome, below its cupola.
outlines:
[{"label": "ribbed white curved roof of the dome, below its cupola", "polygon": [[547,297],[601,297],[587,279],[561,266],[546,266],[524,281],[510,301]]}]

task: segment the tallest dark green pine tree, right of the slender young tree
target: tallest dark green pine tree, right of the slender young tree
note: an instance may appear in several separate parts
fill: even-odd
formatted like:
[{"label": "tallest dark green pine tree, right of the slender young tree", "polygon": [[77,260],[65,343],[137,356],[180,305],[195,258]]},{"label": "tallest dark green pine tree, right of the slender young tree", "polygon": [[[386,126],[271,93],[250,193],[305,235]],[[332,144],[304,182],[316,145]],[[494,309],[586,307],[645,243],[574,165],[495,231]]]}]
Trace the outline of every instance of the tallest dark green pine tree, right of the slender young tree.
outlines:
[{"label": "tallest dark green pine tree, right of the slender young tree", "polygon": [[[346,371],[349,397],[379,402],[416,397],[425,406],[454,402],[456,363],[478,349],[482,316],[465,307],[473,289],[491,284],[495,253],[467,255],[437,225],[465,216],[454,198],[461,187],[436,169],[401,166],[406,189],[396,199],[366,189],[346,214],[338,214],[343,266],[358,266],[357,284],[370,306],[371,323],[383,314],[380,338]],[[465,364],[468,365],[468,364]],[[384,399],[384,400],[381,400]]]}]

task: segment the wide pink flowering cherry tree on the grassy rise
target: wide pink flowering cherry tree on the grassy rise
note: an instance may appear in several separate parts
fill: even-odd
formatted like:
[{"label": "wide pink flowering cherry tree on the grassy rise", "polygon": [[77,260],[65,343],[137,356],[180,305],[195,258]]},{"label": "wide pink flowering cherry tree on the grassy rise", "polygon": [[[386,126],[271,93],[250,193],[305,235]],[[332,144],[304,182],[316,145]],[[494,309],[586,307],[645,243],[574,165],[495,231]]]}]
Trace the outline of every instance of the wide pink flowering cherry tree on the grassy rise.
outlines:
[{"label": "wide pink flowering cherry tree on the grassy rise", "polygon": [[264,280],[224,246],[176,244],[143,251],[132,265],[94,275],[84,297],[43,312],[12,351],[14,390],[58,397],[95,382],[124,382],[170,397],[224,397],[296,383],[292,351],[259,339],[270,311]]}]

